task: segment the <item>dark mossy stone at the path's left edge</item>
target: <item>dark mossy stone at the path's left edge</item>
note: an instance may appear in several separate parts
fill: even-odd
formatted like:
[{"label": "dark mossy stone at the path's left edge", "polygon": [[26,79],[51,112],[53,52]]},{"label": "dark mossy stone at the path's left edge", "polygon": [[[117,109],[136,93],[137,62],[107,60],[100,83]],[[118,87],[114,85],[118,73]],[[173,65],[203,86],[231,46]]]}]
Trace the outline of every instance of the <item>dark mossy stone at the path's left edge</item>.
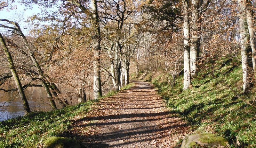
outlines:
[{"label": "dark mossy stone at the path's left edge", "polygon": [[81,148],[79,142],[66,137],[48,137],[43,143],[44,148]]}]

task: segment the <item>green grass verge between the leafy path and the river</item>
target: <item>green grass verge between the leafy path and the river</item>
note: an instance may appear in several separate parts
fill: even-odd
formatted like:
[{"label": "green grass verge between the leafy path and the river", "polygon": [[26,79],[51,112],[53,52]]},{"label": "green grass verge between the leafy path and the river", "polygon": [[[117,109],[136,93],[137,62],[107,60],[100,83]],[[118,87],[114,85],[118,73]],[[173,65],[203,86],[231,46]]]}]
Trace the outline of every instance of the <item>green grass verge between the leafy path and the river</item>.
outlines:
[{"label": "green grass verge between the leafy path and the river", "polygon": [[[133,83],[130,83],[121,90],[128,89],[132,85]],[[118,92],[109,92],[102,98],[116,93]],[[73,117],[86,116],[91,105],[99,100],[90,100],[59,110],[32,112],[27,116],[0,122],[0,148],[35,148],[45,137],[61,136],[62,133],[69,130]]]}]

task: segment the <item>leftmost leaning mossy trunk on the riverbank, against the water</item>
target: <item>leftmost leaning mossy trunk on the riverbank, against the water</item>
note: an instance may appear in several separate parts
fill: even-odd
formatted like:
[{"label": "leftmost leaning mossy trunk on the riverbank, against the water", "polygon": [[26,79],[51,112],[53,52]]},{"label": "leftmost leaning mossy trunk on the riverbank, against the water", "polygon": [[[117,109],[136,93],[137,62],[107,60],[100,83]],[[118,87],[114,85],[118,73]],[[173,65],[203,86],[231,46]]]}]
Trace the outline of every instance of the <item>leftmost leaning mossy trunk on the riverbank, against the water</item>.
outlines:
[{"label": "leftmost leaning mossy trunk on the riverbank, against the water", "polygon": [[8,61],[8,65],[9,65],[9,68],[10,68],[10,71],[12,73],[12,76],[13,76],[13,79],[15,81],[15,84],[17,86],[17,89],[18,89],[18,92],[19,92],[19,95],[20,95],[20,99],[23,103],[23,108],[24,108],[24,111],[25,111],[25,115],[30,113],[30,108],[29,108],[29,105],[28,105],[28,100],[25,96],[25,93],[24,93],[24,90],[22,88],[22,85],[20,83],[20,79],[19,79],[19,76],[18,74],[16,73],[16,70],[15,70],[15,67],[14,67],[14,63],[13,63],[13,60],[12,60],[12,56],[11,56],[11,53],[9,51],[9,48],[7,47],[5,41],[4,41],[4,38],[2,36],[2,34],[0,33],[0,43],[4,49],[4,53],[6,55],[6,58],[7,58],[7,61]]}]

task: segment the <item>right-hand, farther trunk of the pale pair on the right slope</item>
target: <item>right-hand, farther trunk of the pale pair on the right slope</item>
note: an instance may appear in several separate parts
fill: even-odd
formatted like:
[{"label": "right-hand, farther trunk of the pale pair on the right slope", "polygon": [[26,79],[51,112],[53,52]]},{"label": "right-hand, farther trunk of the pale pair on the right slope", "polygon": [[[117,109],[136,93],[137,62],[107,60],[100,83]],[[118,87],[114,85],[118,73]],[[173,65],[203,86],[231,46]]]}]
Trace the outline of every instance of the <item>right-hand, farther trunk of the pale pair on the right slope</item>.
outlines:
[{"label": "right-hand, farther trunk of the pale pair on the right slope", "polygon": [[190,39],[190,75],[196,76],[197,71],[197,55],[199,52],[199,7],[202,0],[192,0],[192,18],[191,18],[191,39]]}]

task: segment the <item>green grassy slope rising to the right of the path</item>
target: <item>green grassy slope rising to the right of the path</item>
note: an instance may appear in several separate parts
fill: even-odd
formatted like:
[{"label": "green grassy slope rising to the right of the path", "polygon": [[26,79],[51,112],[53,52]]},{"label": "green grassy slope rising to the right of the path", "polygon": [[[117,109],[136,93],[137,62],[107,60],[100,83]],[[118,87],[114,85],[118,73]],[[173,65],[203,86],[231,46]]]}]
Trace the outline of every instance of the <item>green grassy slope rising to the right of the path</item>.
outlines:
[{"label": "green grassy slope rising to the right of the path", "polygon": [[183,75],[176,79],[174,88],[167,81],[169,75],[161,69],[144,74],[143,79],[158,88],[168,109],[191,123],[192,130],[217,133],[227,138],[231,147],[252,148],[256,147],[256,109],[245,101],[253,100],[250,96],[255,96],[255,88],[253,94],[240,93],[243,82],[239,65],[239,61],[219,60],[216,68],[201,69],[192,80],[193,87],[185,91]]}]

